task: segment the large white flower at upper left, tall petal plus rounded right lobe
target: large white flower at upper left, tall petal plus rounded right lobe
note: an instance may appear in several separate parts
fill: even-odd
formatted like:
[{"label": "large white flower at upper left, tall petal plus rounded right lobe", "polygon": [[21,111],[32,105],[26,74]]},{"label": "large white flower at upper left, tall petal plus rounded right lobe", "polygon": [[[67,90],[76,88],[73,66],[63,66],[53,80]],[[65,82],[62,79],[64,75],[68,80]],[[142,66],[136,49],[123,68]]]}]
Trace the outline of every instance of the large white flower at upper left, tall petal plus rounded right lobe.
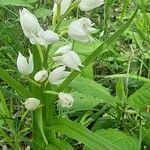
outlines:
[{"label": "large white flower at upper left, tall petal plus rounded right lobe", "polygon": [[51,30],[44,31],[40,27],[37,18],[25,8],[22,11],[20,10],[20,23],[24,34],[30,39],[31,44],[47,47],[49,44],[59,41],[57,33]]}]

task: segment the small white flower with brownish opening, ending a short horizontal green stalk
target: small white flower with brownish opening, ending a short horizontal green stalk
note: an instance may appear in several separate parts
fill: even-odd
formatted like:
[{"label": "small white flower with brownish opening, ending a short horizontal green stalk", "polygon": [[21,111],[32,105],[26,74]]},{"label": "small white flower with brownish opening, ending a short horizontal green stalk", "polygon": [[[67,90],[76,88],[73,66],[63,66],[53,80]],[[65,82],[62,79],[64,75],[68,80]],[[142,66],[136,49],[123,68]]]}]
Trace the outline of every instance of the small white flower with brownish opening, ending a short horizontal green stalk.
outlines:
[{"label": "small white flower with brownish opening, ending a short horizontal green stalk", "polygon": [[58,104],[60,104],[62,107],[72,107],[74,99],[70,94],[60,92],[58,97]]}]

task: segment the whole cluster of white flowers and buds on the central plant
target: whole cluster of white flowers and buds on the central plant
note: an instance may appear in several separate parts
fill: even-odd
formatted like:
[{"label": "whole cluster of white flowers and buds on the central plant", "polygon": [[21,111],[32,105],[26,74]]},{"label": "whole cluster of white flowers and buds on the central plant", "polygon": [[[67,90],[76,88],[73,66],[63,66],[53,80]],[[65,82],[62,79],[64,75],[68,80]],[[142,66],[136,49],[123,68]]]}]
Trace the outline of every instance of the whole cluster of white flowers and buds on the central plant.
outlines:
[{"label": "whole cluster of white flowers and buds on the central plant", "polygon": [[[81,11],[89,11],[103,4],[103,0],[76,0],[75,1]],[[53,12],[56,13],[58,7],[60,8],[60,15],[64,15],[65,12],[71,6],[71,0],[54,0]],[[20,24],[23,33],[29,38],[31,44],[41,45],[45,48],[48,45],[54,44],[59,41],[59,35],[52,30],[44,30],[39,24],[37,18],[23,8],[20,10]],[[94,38],[91,36],[96,31],[93,28],[93,23],[89,18],[82,17],[73,21],[68,26],[68,36],[72,40],[89,42]],[[66,77],[70,74],[69,70],[80,71],[82,67],[81,59],[78,54],[73,50],[73,45],[65,45],[60,47],[52,56],[52,60],[57,63],[57,67],[52,71],[49,68],[41,68],[35,75],[34,80],[38,83],[42,83],[48,80],[53,85],[61,84]],[[29,58],[26,58],[19,52],[17,58],[17,68],[23,76],[30,75],[34,70],[34,62],[31,51],[29,50]],[[67,71],[66,71],[66,68]],[[74,99],[70,94],[59,93],[58,103],[62,107],[71,107]],[[36,98],[28,98],[25,102],[25,107],[28,110],[35,110],[40,105],[40,100]]]}]

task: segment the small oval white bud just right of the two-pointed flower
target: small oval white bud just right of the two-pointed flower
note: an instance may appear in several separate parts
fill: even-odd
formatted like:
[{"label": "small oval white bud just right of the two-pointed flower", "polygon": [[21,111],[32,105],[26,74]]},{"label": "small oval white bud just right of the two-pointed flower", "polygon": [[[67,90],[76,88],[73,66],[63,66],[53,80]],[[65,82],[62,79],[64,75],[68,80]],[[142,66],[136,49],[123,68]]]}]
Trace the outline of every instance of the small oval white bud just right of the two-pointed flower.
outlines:
[{"label": "small oval white bud just right of the two-pointed flower", "polygon": [[48,72],[47,70],[41,70],[37,72],[34,76],[34,80],[38,82],[43,82],[48,78]]}]

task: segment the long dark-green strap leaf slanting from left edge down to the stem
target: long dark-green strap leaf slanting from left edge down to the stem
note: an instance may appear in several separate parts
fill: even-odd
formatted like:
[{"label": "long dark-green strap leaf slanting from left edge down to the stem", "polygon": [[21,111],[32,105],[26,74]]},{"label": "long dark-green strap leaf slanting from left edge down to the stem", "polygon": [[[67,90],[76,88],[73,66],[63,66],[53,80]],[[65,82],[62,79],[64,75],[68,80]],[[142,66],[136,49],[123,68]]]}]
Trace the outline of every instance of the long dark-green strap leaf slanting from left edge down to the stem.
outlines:
[{"label": "long dark-green strap leaf slanting from left edge down to the stem", "polygon": [[12,78],[7,72],[0,67],[0,78],[2,78],[9,86],[11,86],[16,92],[23,98],[28,98],[32,96],[24,86],[22,86],[18,81]]}]

